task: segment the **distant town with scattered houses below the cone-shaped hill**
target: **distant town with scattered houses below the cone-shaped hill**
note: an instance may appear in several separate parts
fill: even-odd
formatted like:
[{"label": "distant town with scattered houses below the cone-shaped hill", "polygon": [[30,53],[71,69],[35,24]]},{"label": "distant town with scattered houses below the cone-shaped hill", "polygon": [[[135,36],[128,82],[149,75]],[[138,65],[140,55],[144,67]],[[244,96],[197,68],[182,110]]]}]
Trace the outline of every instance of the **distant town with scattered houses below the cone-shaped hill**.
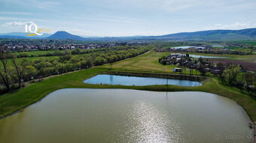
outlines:
[{"label": "distant town with scattered houses below the cone-shaped hill", "polygon": [[8,51],[29,52],[37,50],[101,49],[115,46],[145,45],[142,42],[76,43],[74,40],[5,40],[1,48]]}]

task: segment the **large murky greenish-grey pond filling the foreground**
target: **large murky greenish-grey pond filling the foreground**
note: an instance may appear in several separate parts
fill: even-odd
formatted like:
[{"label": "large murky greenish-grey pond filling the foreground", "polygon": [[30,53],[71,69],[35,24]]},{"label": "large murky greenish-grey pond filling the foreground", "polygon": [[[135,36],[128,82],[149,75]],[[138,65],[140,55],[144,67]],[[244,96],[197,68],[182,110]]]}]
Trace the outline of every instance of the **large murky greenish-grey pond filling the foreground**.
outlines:
[{"label": "large murky greenish-grey pond filling the foreground", "polygon": [[250,120],[204,92],[62,89],[0,120],[1,143],[250,142]]}]

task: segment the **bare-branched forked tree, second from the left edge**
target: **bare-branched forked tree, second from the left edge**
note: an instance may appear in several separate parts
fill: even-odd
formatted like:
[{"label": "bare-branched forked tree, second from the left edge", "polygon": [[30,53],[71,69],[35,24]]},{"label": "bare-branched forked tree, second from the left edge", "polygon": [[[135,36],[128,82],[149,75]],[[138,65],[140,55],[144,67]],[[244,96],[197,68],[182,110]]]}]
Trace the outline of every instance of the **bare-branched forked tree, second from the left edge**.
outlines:
[{"label": "bare-branched forked tree, second from the left edge", "polygon": [[14,57],[11,59],[11,62],[14,64],[20,88],[23,72],[26,69],[26,66],[29,65],[29,61],[26,58],[23,58],[21,62],[17,62],[17,57],[14,55]]}]

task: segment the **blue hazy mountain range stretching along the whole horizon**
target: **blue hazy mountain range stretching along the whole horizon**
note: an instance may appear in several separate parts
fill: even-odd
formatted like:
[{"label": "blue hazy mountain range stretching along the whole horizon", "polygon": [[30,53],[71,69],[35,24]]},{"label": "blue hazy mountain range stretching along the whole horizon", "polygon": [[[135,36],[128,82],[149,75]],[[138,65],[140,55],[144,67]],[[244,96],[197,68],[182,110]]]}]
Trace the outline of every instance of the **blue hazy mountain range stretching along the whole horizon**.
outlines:
[{"label": "blue hazy mountain range stretching along the whole horizon", "polygon": [[102,40],[102,41],[122,41],[122,40],[256,40],[256,28],[242,30],[209,30],[195,32],[181,32],[176,34],[166,34],[162,36],[133,36],[133,37],[81,37],[69,34],[66,31],[57,31],[54,34],[43,34],[42,36],[28,36],[22,32],[12,32],[0,34],[0,38],[32,38],[32,39],[71,39],[71,40]]}]

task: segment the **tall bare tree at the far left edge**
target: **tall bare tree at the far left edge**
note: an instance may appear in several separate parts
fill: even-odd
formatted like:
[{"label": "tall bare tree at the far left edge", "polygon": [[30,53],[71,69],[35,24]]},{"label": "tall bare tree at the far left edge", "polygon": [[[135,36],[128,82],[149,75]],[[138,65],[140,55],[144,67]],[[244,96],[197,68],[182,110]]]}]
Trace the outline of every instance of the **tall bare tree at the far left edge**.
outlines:
[{"label": "tall bare tree at the far left edge", "polygon": [[4,49],[0,49],[0,61],[2,62],[2,65],[0,67],[0,76],[7,91],[10,91],[8,52],[5,52]]}]

